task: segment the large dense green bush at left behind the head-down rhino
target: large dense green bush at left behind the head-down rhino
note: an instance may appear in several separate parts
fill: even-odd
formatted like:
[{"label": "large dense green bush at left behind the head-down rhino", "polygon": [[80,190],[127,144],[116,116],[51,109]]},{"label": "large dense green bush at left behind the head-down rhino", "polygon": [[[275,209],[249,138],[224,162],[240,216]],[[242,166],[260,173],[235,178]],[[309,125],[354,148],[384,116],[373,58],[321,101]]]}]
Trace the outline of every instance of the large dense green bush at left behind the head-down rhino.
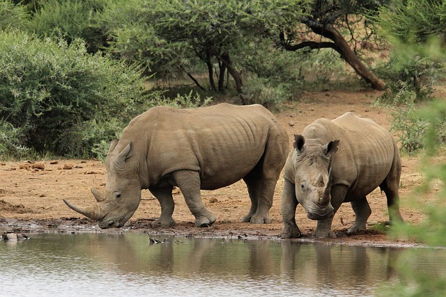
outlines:
[{"label": "large dense green bush at left behind the head-down rhino", "polygon": [[137,68],[87,54],[82,40],[18,31],[0,33],[0,81],[0,121],[22,141],[14,145],[62,156],[92,156],[158,98]]}]

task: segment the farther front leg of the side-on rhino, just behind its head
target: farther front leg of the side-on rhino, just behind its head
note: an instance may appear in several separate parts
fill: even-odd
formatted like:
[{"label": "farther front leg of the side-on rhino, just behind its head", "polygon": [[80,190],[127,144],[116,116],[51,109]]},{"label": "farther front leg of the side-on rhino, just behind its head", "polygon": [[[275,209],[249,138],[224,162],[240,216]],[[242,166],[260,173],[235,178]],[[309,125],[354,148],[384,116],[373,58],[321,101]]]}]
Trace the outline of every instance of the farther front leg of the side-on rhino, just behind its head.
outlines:
[{"label": "farther front leg of the side-on rhino, just behind its head", "polygon": [[154,188],[151,187],[148,190],[157,198],[161,205],[161,216],[154,220],[151,224],[152,227],[171,227],[176,225],[172,214],[174,214],[174,198],[172,197],[173,186],[167,186],[164,188]]}]

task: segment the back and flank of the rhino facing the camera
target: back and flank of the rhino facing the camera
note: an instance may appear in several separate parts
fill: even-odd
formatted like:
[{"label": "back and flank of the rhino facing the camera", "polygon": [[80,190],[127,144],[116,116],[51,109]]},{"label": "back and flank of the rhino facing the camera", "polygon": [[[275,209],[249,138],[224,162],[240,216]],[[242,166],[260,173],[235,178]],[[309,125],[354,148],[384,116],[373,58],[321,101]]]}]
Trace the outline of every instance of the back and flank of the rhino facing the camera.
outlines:
[{"label": "back and flank of the rhino facing the camera", "polygon": [[387,177],[394,159],[399,160],[397,145],[389,131],[353,113],[332,121],[316,120],[313,128],[306,128],[305,132],[323,138],[325,143],[339,139],[332,161],[332,183],[348,186],[345,202],[374,191]]}]

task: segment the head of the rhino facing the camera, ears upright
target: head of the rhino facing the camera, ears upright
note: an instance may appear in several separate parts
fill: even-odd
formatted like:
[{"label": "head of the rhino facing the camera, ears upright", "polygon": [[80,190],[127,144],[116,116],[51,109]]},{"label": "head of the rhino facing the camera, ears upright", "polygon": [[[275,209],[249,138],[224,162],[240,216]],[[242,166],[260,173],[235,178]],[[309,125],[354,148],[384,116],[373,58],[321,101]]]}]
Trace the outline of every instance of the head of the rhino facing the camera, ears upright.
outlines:
[{"label": "head of the rhino facing the camera, ears upright", "polygon": [[307,217],[323,220],[334,215],[331,200],[332,154],[337,152],[339,141],[321,144],[319,139],[305,143],[302,135],[294,136],[295,195]]}]

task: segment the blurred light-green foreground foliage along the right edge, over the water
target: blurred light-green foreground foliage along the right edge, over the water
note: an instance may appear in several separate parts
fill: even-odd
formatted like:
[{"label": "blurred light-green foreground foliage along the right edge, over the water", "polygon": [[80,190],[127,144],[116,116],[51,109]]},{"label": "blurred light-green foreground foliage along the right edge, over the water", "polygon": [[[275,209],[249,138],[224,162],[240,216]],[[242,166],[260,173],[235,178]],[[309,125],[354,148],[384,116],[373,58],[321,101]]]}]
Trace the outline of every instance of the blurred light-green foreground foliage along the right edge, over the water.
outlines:
[{"label": "blurred light-green foreground foliage along the right edge, over the water", "polygon": [[[436,156],[443,150],[438,138],[443,133],[441,127],[446,122],[446,102],[443,99],[435,100],[429,109],[422,111],[421,116],[429,126],[424,134],[426,156],[422,162],[426,179],[413,197],[417,200],[417,207],[420,207],[420,200],[429,195],[433,184],[439,185],[439,189],[434,199],[424,206],[426,218],[421,223],[398,224],[392,228],[392,235],[414,239],[427,246],[444,247],[446,246],[446,166],[443,162],[438,162]],[[399,259],[397,269],[403,281],[380,289],[381,296],[389,296],[389,293],[398,296],[445,296],[445,274],[426,275],[422,269],[415,268],[410,251]]]}]

